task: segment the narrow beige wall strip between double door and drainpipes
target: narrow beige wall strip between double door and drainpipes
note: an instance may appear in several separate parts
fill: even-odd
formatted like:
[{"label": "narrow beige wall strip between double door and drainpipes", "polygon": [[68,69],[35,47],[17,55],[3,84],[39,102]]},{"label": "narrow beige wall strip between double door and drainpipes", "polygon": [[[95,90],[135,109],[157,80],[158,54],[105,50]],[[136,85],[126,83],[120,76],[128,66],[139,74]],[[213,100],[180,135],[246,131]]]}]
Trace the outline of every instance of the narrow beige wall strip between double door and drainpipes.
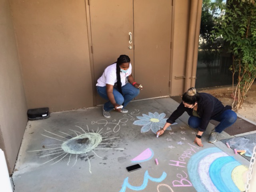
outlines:
[{"label": "narrow beige wall strip between double door and drainpipes", "polygon": [[183,94],[184,79],[175,76],[185,76],[188,30],[189,30],[190,0],[174,0],[172,26],[172,54],[170,95]]}]

